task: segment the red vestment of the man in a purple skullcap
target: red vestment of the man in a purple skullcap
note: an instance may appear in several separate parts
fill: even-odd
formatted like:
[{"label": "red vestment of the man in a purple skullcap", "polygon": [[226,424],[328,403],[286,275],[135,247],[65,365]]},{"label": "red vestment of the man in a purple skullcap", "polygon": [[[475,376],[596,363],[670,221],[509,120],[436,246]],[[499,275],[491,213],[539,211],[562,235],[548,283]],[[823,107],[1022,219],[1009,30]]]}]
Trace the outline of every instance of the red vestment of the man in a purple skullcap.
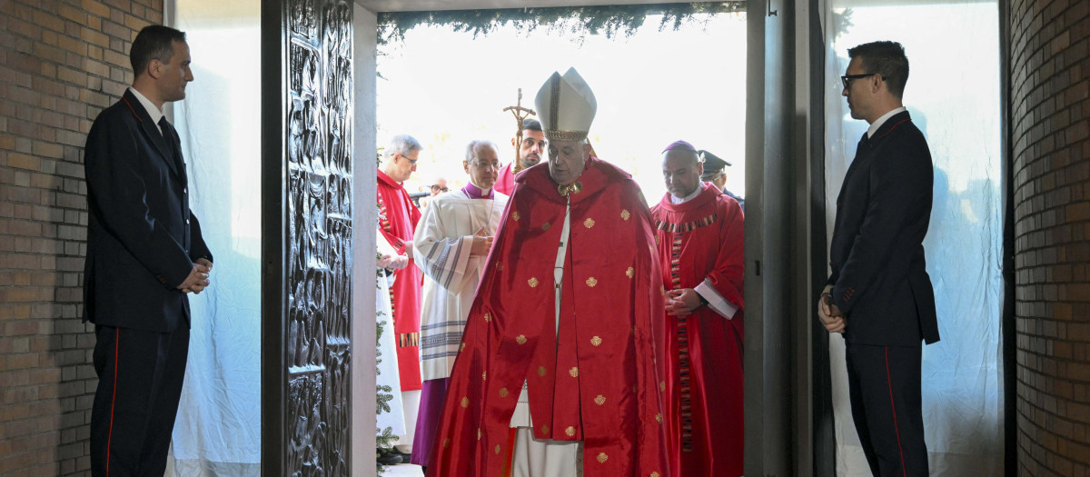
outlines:
[{"label": "red vestment of the man in a purple skullcap", "polygon": [[742,210],[713,184],[683,204],[663,197],[651,215],[666,290],[707,279],[738,307],[727,319],[707,306],[666,316],[668,436],[675,477],[742,475]]}]

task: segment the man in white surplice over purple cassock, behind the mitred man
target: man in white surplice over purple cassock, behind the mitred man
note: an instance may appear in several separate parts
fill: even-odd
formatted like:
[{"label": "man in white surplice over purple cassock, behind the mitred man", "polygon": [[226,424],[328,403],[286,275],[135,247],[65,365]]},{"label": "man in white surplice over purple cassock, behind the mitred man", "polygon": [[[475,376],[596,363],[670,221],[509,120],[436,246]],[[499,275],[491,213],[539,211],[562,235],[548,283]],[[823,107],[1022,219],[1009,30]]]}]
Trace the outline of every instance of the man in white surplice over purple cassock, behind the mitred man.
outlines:
[{"label": "man in white surplice over purple cassock, behind the mitred man", "polygon": [[435,196],[413,234],[416,266],[425,274],[420,316],[424,388],[410,462],[421,466],[427,465],[432,454],[435,427],[443,413],[465,317],[507,205],[507,196],[493,189],[499,166],[495,144],[471,142],[462,161],[469,183],[461,189]]}]

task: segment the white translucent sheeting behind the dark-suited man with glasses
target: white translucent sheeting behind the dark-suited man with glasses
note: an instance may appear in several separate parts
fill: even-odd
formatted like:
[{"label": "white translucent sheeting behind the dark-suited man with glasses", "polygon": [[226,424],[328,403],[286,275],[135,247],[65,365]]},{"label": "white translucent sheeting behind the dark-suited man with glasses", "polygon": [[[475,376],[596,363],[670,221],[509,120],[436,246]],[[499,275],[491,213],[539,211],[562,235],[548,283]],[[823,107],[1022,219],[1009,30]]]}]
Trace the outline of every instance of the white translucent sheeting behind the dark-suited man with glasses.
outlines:
[{"label": "white translucent sheeting behind the dark-suited man with glasses", "polygon": [[[1001,94],[998,5],[829,0],[826,51],[826,228],[867,122],[840,96],[847,50],[905,46],[905,106],[935,164],[924,241],[942,341],[923,348],[923,419],[933,476],[1003,474]],[[832,235],[832,233],[829,233]],[[844,340],[831,338],[837,475],[868,476],[848,404]]]}]

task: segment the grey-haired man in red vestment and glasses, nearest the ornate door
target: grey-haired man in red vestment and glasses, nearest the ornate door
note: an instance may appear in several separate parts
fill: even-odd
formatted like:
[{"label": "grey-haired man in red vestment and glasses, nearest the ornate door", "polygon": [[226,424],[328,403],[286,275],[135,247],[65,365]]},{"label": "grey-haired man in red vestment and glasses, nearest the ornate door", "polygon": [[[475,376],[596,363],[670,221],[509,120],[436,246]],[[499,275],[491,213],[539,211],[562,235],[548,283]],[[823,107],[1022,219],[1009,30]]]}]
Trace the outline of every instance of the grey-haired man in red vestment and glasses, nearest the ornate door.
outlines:
[{"label": "grey-haired man in red vestment and glasses, nearest the ornate door", "polygon": [[420,210],[401,185],[416,170],[421,146],[412,136],[397,136],[386,150],[378,175],[379,229],[398,255],[409,256],[409,266],[393,272],[390,303],[397,342],[401,391],[421,389],[420,377],[420,288],[421,271],[412,261],[412,233]]}]

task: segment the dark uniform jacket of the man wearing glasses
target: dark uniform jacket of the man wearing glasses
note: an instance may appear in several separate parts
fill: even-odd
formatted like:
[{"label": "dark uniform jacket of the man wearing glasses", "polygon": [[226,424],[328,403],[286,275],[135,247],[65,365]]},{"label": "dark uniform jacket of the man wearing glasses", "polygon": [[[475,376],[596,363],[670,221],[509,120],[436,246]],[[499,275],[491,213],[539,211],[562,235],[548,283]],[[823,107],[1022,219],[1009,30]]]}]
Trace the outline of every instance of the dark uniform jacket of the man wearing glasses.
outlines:
[{"label": "dark uniform jacket of the man wearing glasses", "polygon": [[833,304],[845,339],[919,346],[938,341],[934,290],[923,258],[934,171],[908,111],[861,142],[836,199],[829,250]]}]

